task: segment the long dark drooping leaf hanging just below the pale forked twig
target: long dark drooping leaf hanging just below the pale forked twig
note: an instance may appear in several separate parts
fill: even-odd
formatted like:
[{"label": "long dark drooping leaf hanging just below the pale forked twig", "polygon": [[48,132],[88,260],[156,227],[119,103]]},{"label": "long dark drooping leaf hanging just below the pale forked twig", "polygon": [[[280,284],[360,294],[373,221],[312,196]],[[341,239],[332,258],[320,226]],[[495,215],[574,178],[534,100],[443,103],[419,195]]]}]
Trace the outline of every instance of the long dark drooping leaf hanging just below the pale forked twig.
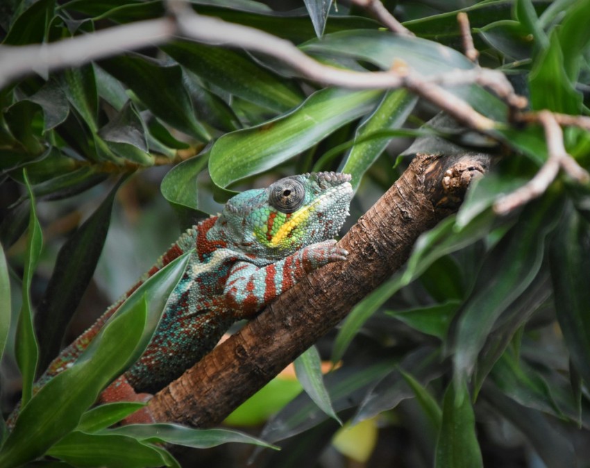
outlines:
[{"label": "long dark drooping leaf hanging just below the pale forked twig", "polygon": [[[559,203],[546,195],[530,203],[519,223],[487,255],[457,324],[455,379],[471,375],[496,320],[530,285],[541,267],[545,238],[559,220]],[[511,265],[506,268],[506,265]]]}]

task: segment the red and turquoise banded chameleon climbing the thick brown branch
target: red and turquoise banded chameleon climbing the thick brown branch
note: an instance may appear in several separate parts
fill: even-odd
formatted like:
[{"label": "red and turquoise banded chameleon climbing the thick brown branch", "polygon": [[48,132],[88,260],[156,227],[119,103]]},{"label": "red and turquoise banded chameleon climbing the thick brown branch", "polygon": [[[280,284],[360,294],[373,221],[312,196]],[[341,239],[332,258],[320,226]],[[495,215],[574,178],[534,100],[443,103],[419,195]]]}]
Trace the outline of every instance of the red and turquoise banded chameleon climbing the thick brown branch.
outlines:
[{"label": "red and turquoise banded chameleon climbing the thick brown branch", "polygon": [[[138,392],[160,390],[208,353],[234,321],[253,317],[313,269],[344,260],[346,251],[331,239],[348,215],[349,180],[332,172],[283,178],[238,194],[219,217],[180,236],[123,298],[190,252],[151,342],[124,374],[125,385]],[[62,351],[41,383],[73,364],[123,299]]]}]

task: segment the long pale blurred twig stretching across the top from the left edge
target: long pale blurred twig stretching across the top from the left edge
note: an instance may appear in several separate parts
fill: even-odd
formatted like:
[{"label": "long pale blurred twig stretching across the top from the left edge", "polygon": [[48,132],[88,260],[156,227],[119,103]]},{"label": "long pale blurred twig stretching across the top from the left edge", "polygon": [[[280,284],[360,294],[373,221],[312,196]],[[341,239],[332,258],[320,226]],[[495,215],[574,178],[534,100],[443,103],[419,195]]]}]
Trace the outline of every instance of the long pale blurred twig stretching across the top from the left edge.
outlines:
[{"label": "long pale blurred twig stretching across the top from the left edge", "polygon": [[[449,115],[475,130],[485,131],[494,122],[473,110],[462,99],[439,86],[432,85],[410,70],[403,76],[396,68],[385,72],[355,72],[323,65],[305,55],[291,42],[255,28],[224,22],[219,18],[194,13],[185,3],[170,2],[169,17],[115,26],[97,33],[70,39],[23,47],[0,47],[0,87],[16,76],[30,72],[47,74],[51,69],[76,67],[85,62],[104,58],[122,51],[155,45],[178,35],[205,42],[241,47],[278,58],[292,67],[303,78],[350,89],[394,89],[406,85],[408,89],[430,100]],[[435,81],[435,77],[431,77]],[[498,85],[502,89],[505,85]]]}]

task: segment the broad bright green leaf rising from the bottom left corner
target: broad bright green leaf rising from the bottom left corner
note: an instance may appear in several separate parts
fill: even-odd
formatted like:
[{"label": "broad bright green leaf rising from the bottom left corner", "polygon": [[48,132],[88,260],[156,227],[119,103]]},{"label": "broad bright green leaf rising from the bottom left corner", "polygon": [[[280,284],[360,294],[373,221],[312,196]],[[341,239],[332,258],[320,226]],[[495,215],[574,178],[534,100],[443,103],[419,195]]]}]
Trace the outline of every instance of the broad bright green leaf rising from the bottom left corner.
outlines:
[{"label": "broad bright green leaf rising from the bottom left corner", "polygon": [[0,451],[1,465],[16,467],[34,460],[74,429],[103,387],[124,368],[145,323],[146,303],[142,300],[110,321],[76,365],[44,385],[19,413]]}]

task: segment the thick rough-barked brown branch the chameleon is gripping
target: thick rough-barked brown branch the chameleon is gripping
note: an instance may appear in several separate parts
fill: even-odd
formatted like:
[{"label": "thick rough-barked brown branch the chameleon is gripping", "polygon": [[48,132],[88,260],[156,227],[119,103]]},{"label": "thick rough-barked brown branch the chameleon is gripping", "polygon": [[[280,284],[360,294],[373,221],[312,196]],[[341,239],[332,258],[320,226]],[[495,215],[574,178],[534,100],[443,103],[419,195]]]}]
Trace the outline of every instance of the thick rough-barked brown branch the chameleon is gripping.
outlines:
[{"label": "thick rough-barked brown branch the chameleon is gripping", "polygon": [[457,209],[488,165],[480,154],[416,156],[340,241],[348,260],[315,271],[156,394],[148,406],[154,419],[219,424],[399,269],[418,236]]}]

